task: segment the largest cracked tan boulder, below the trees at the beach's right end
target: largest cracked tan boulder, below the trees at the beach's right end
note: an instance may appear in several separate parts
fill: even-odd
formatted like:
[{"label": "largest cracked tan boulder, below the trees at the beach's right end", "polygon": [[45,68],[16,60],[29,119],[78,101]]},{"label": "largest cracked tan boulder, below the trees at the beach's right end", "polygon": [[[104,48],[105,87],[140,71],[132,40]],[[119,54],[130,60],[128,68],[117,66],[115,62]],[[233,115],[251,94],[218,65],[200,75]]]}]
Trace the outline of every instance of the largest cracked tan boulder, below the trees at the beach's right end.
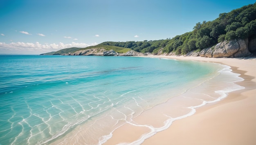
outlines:
[{"label": "largest cracked tan boulder, below the trees at the beach's right end", "polygon": [[235,39],[218,43],[214,47],[213,57],[244,57],[251,53],[248,50],[248,39]]}]

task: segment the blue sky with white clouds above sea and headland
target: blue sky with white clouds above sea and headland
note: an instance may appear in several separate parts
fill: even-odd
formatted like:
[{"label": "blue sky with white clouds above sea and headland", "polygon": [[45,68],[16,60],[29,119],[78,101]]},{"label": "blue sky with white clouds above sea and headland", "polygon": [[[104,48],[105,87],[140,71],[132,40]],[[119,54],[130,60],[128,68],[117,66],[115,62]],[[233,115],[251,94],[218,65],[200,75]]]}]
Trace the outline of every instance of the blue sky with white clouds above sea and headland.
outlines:
[{"label": "blue sky with white clouds above sea and headland", "polygon": [[172,38],[254,0],[1,0],[0,54]]}]

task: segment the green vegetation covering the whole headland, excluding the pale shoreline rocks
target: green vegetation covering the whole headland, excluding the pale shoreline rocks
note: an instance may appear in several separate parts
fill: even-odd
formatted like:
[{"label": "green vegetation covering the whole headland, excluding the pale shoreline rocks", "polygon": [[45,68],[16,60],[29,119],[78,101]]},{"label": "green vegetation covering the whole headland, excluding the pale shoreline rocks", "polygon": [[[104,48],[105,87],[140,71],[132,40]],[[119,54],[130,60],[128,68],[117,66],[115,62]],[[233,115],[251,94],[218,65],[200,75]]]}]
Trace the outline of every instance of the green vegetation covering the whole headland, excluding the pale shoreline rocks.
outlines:
[{"label": "green vegetation covering the whole headland, excluding the pale shoreline rocks", "polygon": [[[144,40],[137,42],[108,41],[87,48],[66,48],[54,54],[67,54],[78,50],[104,48],[106,50],[112,49],[118,53],[134,50],[142,53],[150,52],[156,55],[186,55],[194,51],[198,52],[199,55],[199,52],[205,48],[212,48],[212,56],[214,50],[219,49],[214,48],[218,43],[223,43],[224,45],[232,41],[233,44],[230,43],[230,45],[239,45],[239,43],[242,43],[240,40],[243,40],[243,43],[247,45],[245,49],[249,50],[251,53],[256,52],[256,3],[243,6],[229,13],[221,13],[219,17],[213,21],[198,22],[195,24],[193,31],[177,35],[172,39],[166,38],[162,40]],[[221,49],[227,51],[224,46]],[[240,48],[237,48],[236,52],[239,52],[239,49]],[[245,55],[249,55],[249,53],[246,52]],[[222,55],[218,56],[221,57]],[[235,56],[243,55],[223,55],[223,57]]]}]

